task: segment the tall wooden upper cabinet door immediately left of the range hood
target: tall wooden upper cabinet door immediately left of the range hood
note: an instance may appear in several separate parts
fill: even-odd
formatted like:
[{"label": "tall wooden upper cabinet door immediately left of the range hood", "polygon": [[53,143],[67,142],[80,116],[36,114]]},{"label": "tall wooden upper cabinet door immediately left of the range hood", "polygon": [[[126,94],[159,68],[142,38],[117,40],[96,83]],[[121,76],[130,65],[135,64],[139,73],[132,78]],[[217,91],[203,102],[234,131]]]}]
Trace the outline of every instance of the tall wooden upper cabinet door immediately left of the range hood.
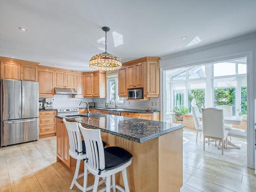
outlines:
[{"label": "tall wooden upper cabinet door immediately left of the range hood", "polygon": [[53,71],[38,69],[39,97],[53,96]]}]

